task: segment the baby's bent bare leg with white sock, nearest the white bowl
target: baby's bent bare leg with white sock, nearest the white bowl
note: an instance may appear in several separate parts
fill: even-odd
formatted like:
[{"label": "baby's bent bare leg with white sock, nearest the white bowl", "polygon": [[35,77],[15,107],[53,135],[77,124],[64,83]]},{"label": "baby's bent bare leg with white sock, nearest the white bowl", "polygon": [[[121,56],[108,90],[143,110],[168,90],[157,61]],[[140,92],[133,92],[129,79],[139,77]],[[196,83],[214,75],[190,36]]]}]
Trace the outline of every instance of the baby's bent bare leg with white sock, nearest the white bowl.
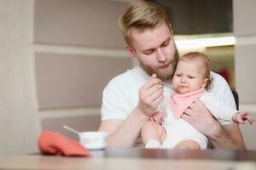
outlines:
[{"label": "baby's bent bare leg with white sock, nearest the white bowl", "polygon": [[148,148],[160,148],[160,144],[166,138],[166,130],[160,124],[148,121],[141,130],[143,144]]}]

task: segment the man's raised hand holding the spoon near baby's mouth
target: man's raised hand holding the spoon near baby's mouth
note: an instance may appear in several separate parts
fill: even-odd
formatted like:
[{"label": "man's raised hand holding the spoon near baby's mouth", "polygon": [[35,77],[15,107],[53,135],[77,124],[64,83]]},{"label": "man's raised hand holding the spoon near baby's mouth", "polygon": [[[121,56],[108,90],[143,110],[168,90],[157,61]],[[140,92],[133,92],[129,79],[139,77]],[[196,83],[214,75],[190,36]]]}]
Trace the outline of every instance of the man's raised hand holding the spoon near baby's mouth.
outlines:
[{"label": "man's raised hand holding the spoon near baby's mouth", "polygon": [[137,109],[148,117],[152,116],[162,99],[164,99],[164,86],[161,80],[153,74],[139,90]]}]

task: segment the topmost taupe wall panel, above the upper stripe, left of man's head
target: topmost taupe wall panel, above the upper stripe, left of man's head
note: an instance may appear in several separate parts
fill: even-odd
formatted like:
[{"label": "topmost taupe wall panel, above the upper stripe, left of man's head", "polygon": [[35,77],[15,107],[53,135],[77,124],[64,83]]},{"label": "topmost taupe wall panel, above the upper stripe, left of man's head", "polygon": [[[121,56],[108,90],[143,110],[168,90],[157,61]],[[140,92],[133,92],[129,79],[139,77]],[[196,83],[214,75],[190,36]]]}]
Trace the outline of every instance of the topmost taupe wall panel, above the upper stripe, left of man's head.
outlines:
[{"label": "topmost taupe wall panel, above the upper stripe, left of man's head", "polygon": [[117,20],[126,4],[110,0],[36,0],[34,41],[123,48]]}]

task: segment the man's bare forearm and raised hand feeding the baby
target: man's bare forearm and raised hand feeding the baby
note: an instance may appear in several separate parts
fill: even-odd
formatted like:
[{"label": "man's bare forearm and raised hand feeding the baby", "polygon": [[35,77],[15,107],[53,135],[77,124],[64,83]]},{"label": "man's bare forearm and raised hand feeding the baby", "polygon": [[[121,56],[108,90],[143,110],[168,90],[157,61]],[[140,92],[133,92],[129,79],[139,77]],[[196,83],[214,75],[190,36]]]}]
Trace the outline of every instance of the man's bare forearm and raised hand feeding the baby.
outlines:
[{"label": "man's bare forearm and raised hand feeding the baby", "polygon": [[135,144],[143,124],[154,114],[164,98],[163,93],[162,82],[153,75],[140,88],[138,105],[125,120],[103,120],[99,131],[109,133],[107,146],[129,147]]}]

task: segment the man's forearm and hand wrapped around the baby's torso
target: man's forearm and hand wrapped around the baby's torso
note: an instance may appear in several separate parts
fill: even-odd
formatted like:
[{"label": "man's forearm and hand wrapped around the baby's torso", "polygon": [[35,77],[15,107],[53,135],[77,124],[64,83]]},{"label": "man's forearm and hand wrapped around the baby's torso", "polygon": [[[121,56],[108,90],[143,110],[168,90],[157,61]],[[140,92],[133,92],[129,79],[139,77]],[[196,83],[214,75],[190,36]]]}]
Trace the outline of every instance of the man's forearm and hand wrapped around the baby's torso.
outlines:
[{"label": "man's forearm and hand wrapped around the baby's torso", "polygon": [[216,149],[246,149],[238,125],[232,123],[222,127],[200,100],[195,100],[182,118],[204,133]]}]

